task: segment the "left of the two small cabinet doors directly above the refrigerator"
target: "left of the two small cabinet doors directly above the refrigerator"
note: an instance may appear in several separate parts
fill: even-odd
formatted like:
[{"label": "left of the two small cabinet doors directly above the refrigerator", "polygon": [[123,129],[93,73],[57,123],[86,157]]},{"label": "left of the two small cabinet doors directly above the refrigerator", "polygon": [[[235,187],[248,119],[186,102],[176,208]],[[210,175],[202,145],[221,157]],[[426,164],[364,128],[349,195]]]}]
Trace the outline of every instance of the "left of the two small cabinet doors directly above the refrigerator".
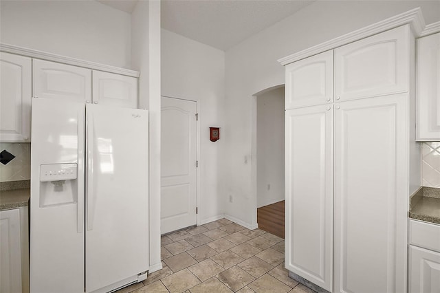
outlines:
[{"label": "left of the two small cabinet doors directly above the refrigerator", "polygon": [[91,69],[34,59],[34,96],[91,102]]}]

